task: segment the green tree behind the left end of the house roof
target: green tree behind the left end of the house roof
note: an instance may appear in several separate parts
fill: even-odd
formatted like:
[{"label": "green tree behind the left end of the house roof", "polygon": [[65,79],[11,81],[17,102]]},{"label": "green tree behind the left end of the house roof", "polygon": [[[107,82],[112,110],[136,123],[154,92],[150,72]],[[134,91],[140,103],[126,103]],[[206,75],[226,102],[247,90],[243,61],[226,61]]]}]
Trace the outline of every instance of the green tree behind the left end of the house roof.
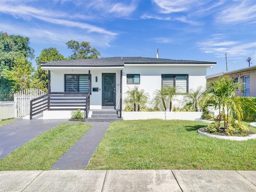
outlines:
[{"label": "green tree behind the left end of the house roof", "polygon": [[36,58],[37,70],[33,76],[32,87],[48,92],[48,71],[42,70],[41,62],[67,60],[56,48],[46,48]]}]

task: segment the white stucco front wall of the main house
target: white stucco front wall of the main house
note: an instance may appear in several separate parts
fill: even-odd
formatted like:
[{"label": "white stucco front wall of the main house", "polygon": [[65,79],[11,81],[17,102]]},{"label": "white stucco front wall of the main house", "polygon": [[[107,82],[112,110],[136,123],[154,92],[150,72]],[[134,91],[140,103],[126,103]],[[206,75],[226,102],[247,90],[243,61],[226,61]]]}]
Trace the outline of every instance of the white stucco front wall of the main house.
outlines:
[{"label": "white stucco front wall of the main house", "polygon": [[[90,108],[100,109],[102,106],[102,73],[116,74],[116,102],[119,102],[118,91],[120,90],[120,69],[96,69],[90,70],[92,88],[98,87],[98,92],[91,92]],[[88,74],[88,70],[51,70],[51,92],[64,92],[64,75],[65,74]],[[140,89],[149,93],[151,99],[155,90],[160,89],[162,85],[161,74],[188,74],[188,89],[206,84],[206,67],[205,66],[124,66],[122,72],[122,98],[126,97],[125,92],[128,87],[133,88],[135,85],[126,84],[126,74],[140,74]],[[96,76],[98,81],[96,82]],[[92,90],[92,89],[91,89]],[[176,96],[182,101],[183,96]],[[181,106],[179,102],[174,101],[173,106]],[[148,106],[152,107],[152,106]],[[124,108],[124,104],[123,104]]]}]

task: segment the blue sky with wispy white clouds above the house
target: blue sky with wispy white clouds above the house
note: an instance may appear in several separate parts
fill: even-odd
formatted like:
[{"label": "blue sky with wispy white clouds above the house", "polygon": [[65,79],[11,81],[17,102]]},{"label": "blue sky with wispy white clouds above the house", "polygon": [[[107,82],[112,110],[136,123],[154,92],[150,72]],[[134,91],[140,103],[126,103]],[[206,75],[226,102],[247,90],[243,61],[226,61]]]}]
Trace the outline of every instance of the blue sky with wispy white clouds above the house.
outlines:
[{"label": "blue sky with wispy white clouds above the house", "polygon": [[[254,0],[1,0],[0,30],[30,38],[39,56],[69,40],[91,42],[101,57],[217,62],[207,75],[256,65]],[[35,62],[33,61],[35,64]]]}]

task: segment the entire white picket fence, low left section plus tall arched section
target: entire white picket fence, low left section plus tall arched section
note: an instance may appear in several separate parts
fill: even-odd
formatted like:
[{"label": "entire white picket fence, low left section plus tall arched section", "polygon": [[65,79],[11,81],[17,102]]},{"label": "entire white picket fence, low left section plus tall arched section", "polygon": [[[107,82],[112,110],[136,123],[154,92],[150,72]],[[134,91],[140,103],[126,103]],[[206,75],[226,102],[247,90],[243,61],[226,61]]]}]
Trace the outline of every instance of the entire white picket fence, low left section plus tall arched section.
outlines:
[{"label": "entire white picket fence, low left section plus tall arched section", "polygon": [[[30,100],[42,96],[44,91],[29,88],[14,94],[14,101],[1,102],[0,120],[14,117],[24,117],[30,114]],[[10,103],[12,102],[12,104]]]}]

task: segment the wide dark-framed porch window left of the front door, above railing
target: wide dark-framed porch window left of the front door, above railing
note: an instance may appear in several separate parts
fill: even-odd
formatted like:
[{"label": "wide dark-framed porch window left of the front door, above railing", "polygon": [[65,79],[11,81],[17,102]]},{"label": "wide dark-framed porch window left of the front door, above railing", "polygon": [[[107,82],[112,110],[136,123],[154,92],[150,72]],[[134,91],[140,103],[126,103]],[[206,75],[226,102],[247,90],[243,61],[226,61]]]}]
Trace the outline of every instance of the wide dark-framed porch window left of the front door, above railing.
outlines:
[{"label": "wide dark-framed porch window left of the front door, above railing", "polygon": [[65,92],[88,92],[88,75],[65,74]]}]

